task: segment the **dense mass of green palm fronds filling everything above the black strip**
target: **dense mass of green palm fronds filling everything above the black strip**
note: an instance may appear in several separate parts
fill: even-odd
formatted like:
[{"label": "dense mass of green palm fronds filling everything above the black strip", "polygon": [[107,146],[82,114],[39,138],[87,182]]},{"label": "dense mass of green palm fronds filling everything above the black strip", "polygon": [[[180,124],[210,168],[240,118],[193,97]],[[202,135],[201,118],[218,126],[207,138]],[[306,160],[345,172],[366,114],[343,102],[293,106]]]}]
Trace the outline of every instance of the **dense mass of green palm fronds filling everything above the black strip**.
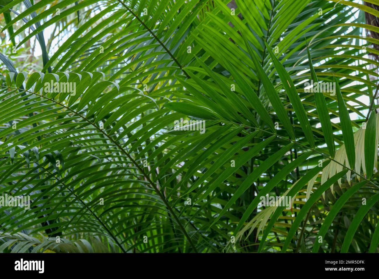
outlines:
[{"label": "dense mass of green palm fronds filling everything above the black strip", "polygon": [[0,251],[377,252],[377,5],[0,1]]}]

